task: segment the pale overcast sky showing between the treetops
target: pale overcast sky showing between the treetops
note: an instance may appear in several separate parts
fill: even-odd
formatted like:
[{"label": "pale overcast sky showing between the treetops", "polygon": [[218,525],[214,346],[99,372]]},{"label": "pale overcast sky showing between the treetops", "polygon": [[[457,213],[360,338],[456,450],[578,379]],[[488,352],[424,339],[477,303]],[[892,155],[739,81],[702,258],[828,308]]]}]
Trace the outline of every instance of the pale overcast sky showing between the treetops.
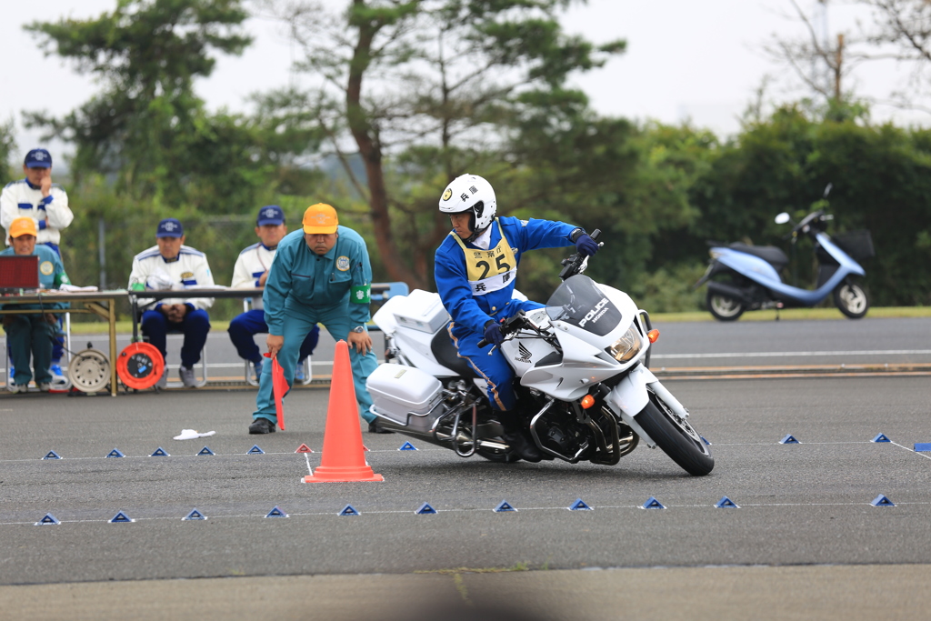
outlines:
[{"label": "pale overcast sky showing between the treetops", "polygon": [[[345,0],[325,0],[344,6]],[[815,0],[798,0],[810,9]],[[60,17],[96,17],[115,7],[115,0],[42,0],[6,3],[0,20],[0,121],[14,118],[20,151],[38,145],[39,133],[22,128],[22,110],[47,110],[62,115],[98,89],[88,76],[56,57],[46,58],[22,25]],[[855,19],[866,16],[840,1],[829,5],[828,33],[849,31]],[[627,53],[603,69],[573,78],[602,115],[657,119],[680,123],[691,119],[698,127],[721,136],[734,134],[738,118],[754,97],[766,74],[785,78],[786,70],[762,54],[762,43],[773,34],[801,34],[801,26],[785,15],[789,0],[589,0],[574,7],[562,20],[569,33],[595,42],[627,40]],[[250,20],[255,43],[241,57],[219,59],[214,74],[197,83],[198,94],[210,108],[244,110],[254,91],[285,86],[295,50],[281,27],[268,20]],[[856,76],[858,92],[882,98],[906,74],[891,63],[866,67]],[[774,99],[787,99],[781,85]],[[873,118],[892,118],[902,125],[931,125],[931,115],[903,113],[876,106]],[[61,145],[50,145],[61,149]],[[53,154],[54,155],[54,154]]]}]

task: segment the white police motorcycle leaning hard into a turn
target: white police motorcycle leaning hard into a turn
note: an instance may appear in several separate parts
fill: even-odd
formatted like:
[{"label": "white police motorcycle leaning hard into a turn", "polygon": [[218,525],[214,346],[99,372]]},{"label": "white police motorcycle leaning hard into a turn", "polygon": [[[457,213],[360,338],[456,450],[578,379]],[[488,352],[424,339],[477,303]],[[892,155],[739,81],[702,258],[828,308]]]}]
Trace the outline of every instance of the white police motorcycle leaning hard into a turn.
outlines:
[{"label": "white police motorcycle leaning hard into a turn", "polygon": [[[707,475],[707,442],[647,368],[659,332],[627,293],[585,276],[587,262],[578,253],[563,260],[546,306],[502,324],[533,441],[545,459],[614,466],[642,440],[689,474]],[[367,383],[376,425],[461,457],[517,461],[486,383],[456,354],[449,319],[439,294],[424,290],[392,297],[375,313],[386,347],[385,364]]]}]

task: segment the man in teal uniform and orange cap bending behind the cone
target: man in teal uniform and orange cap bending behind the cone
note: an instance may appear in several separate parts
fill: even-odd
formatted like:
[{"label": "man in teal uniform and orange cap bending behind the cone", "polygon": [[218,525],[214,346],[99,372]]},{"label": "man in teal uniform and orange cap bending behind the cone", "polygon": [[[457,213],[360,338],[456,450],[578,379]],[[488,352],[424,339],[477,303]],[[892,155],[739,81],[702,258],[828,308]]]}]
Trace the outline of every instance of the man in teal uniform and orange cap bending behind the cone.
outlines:
[{"label": "man in teal uniform and orange cap bending behind the cone", "polygon": [[[340,226],[336,209],[330,205],[308,207],[304,211],[304,229],[288,234],[278,243],[265,280],[265,344],[268,353],[277,357],[290,388],[301,344],[317,323],[322,323],[335,341],[345,340],[359,413],[373,430],[375,416],[369,412],[371,397],[365,387],[371,371],[378,366],[365,327],[371,318],[370,297],[371,263],[365,240],[352,229]],[[273,433],[277,414],[271,364],[263,365],[255,405],[249,433]]]}]

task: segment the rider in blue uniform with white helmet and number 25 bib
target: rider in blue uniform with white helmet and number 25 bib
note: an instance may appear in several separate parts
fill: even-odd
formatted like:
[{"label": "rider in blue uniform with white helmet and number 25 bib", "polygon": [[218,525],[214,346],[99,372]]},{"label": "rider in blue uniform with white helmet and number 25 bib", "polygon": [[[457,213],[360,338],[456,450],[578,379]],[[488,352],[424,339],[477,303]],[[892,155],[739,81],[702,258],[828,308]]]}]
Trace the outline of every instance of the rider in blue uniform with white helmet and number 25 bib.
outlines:
[{"label": "rider in blue uniform with white helmet and number 25 bib", "polygon": [[[543,304],[512,298],[520,256],[537,248],[575,245],[584,255],[598,244],[584,229],[548,220],[495,218],[497,201],[491,183],[477,175],[454,179],[439,199],[450,215],[452,231],[437,249],[435,277],[443,306],[452,317],[450,337],[460,358],[488,382],[488,398],[505,427],[505,439],[523,459],[540,461],[526,422],[516,412],[514,370],[495,348],[504,335],[500,322]],[[482,339],[488,341],[479,347]]]}]

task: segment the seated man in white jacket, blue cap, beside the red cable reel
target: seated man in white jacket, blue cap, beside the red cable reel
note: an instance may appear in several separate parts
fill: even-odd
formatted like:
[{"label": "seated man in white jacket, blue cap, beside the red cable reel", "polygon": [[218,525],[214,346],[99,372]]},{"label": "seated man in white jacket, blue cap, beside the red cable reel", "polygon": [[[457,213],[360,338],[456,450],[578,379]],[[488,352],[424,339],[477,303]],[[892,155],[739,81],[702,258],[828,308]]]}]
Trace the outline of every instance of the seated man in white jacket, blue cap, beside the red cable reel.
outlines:
[{"label": "seated man in white jacket, blue cap, beside the red cable reel", "polygon": [[[155,241],[155,246],[143,250],[132,260],[129,290],[179,290],[177,298],[139,300],[140,307],[154,304],[142,312],[142,334],[149,337],[149,343],[155,345],[162,358],[168,355],[168,333],[184,334],[179,373],[182,384],[194,388],[194,367],[207,343],[210,331],[207,309],[213,305],[213,298],[189,297],[181,291],[214,287],[213,275],[210,274],[207,255],[184,246],[184,229],[178,220],[166,218],[158,223]],[[168,383],[167,375],[167,372],[162,375],[158,385],[164,387]]]}]

